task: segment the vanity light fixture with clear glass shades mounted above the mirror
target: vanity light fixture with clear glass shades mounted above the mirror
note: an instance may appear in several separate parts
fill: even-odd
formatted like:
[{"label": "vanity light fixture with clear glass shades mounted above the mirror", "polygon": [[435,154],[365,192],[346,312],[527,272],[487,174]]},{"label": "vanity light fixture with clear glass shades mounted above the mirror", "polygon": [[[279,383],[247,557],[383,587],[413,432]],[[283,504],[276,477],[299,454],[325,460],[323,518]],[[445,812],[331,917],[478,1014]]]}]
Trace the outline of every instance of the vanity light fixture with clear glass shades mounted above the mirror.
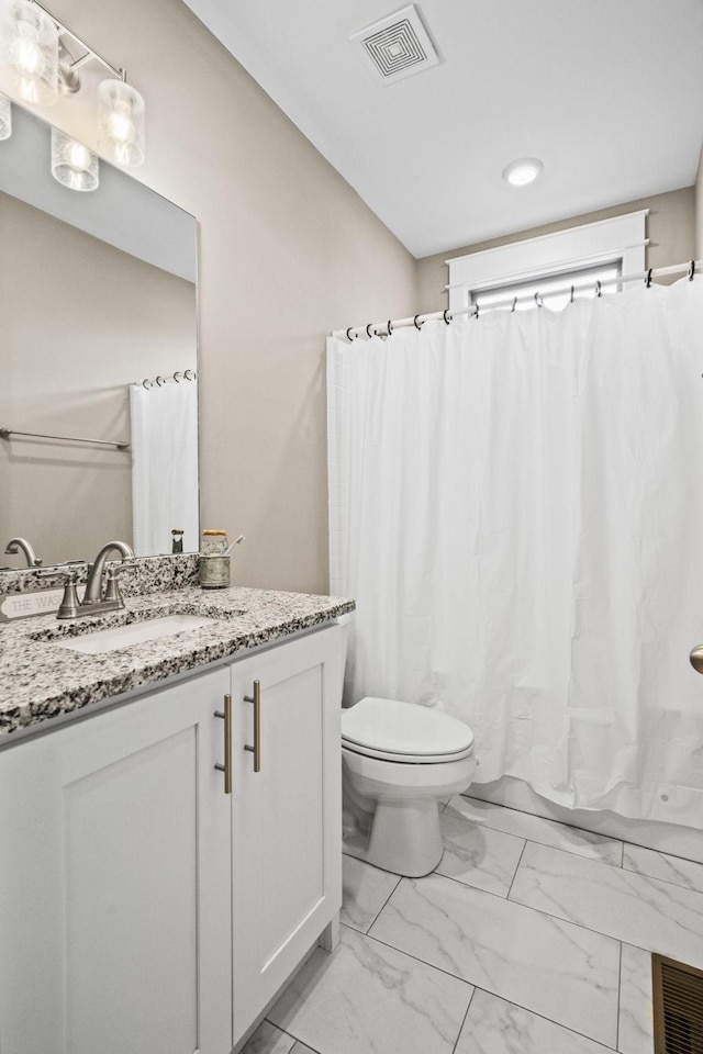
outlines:
[{"label": "vanity light fixture with clear glass shades mounted above the mirror", "polygon": [[144,100],[127,85],[125,70],[86,44],[38,0],[0,0],[0,65],[12,69],[22,99],[51,105],[59,91],[75,94],[81,87],[79,70],[90,61],[111,75],[98,86],[98,148],[115,165],[141,165]]}]

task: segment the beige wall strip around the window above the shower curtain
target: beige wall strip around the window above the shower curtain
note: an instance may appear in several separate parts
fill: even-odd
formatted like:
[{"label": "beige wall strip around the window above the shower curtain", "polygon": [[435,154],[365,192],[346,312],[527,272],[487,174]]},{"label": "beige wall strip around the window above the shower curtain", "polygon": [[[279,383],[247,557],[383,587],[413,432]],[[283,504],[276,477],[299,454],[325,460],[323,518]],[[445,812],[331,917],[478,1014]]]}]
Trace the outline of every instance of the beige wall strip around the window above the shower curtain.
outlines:
[{"label": "beige wall strip around the window above the shower curtain", "polygon": [[[699,180],[700,181],[700,180]],[[701,190],[703,197],[703,189]],[[491,242],[481,242],[477,245],[466,245],[434,256],[424,257],[417,261],[417,311],[443,311],[447,304],[447,293],[444,287],[448,282],[447,259],[464,256],[469,253],[480,253],[482,249],[492,249],[498,245],[507,245],[523,238],[535,238],[566,227],[574,227],[582,223],[594,223],[596,220],[609,220],[627,212],[649,209],[647,216],[647,267],[665,267],[668,264],[681,264],[690,260],[695,254],[695,189],[684,187],[668,194],[657,194],[654,198],[640,198],[628,201],[612,209],[602,209],[581,216],[571,216],[558,223],[549,223],[543,227],[532,227],[516,234],[493,238]],[[701,217],[701,209],[698,210]]]}]

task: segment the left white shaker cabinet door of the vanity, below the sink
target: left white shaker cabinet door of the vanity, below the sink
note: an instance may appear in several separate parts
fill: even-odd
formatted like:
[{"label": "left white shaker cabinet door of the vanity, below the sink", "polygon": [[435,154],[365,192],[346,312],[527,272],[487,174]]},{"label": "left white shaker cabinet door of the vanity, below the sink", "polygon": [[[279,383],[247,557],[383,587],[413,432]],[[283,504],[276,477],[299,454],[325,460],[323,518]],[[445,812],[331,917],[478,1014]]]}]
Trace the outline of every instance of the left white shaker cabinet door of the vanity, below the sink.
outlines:
[{"label": "left white shaker cabinet door of the vanity, below the sink", "polygon": [[228,685],[222,668],[0,753],[2,1054],[231,1051]]}]

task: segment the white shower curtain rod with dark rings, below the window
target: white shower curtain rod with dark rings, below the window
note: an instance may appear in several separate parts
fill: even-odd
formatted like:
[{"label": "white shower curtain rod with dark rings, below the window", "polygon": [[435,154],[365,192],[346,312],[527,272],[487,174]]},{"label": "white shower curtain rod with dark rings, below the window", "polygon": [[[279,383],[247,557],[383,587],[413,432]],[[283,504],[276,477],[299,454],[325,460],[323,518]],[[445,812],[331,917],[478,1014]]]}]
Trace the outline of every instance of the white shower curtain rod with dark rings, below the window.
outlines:
[{"label": "white shower curtain rod with dark rings, below the window", "polygon": [[494,304],[491,304],[488,307],[479,309],[478,304],[471,304],[469,307],[459,307],[457,311],[432,311],[426,314],[419,314],[410,316],[408,318],[389,318],[388,322],[370,322],[367,326],[349,326],[347,329],[334,329],[332,333],[333,337],[338,337],[343,339],[346,337],[347,340],[355,340],[357,337],[364,336],[367,337],[378,337],[383,336],[388,337],[393,332],[393,329],[403,329],[409,326],[415,326],[416,329],[420,329],[425,322],[444,319],[447,325],[451,322],[453,318],[459,317],[459,315],[473,315],[476,318],[479,317],[479,313],[484,311],[500,311],[504,307],[510,307],[512,311],[515,311],[518,304],[534,303],[538,307],[543,306],[543,300],[545,295],[551,295],[554,293],[571,293],[571,302],[576,299],[577,293],[582,292],[584,289],[593,289],[595,287],[596,295],[601,295],[601,291],[605,285],[622,285],[625,282],[645,282],[647,287],[651,284],[652,278],[663,278],[667,274],[679,274],[682,271],[688,271],[689,279],[693,279],[698,270],[703,269],[703,260],[689,260],[687,264],[671,264],[669,267],[650,267],[646,271],[641,271],[637,274],[621,274],[620,278],[607,278],[590,282],[565,282],[563,285],[554,285],[547,291],[547,293],[531,293],[528,296],[510,296],[506,300],[498,301]]}]

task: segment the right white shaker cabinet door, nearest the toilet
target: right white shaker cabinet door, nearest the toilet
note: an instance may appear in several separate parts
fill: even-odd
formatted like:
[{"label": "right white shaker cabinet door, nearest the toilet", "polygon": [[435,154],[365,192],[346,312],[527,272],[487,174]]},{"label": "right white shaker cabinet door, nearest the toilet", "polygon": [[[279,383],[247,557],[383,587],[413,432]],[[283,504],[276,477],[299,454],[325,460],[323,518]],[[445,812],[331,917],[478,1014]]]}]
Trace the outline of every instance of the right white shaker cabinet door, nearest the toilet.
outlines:
[{"label": "right white shaker cabinet door, nearest the toilet", "polygon": [[[234,1041],[263,1012],[342,901],[339,719],[344,630],[232,666]],[[260,772],[254,771],[254,682]]]}]

